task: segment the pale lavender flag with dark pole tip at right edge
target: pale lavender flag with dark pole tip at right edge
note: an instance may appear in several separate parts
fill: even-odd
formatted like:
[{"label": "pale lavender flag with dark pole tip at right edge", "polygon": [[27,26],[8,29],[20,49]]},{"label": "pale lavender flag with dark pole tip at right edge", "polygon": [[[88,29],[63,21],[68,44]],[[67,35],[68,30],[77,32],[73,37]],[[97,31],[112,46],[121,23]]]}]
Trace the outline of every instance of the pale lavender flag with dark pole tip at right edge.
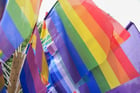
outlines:
[{"label": "pale lavender flag with dark pole tip at right edge", "polygon": [[135,69],[140,73],[140,33],[133,23],[128,25],[127,30],[131,36],[121,47]]}]

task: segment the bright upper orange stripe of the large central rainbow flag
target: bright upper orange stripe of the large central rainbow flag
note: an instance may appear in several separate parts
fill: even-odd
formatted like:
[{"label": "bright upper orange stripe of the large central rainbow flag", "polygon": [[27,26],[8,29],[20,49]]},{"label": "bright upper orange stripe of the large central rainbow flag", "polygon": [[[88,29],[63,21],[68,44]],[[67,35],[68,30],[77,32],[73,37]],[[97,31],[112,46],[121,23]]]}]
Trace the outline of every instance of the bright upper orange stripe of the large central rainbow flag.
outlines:
[{"label": "bright upper orange stripe of the large central rainbow flag", "polygon": [[100,26],[96,23],[96,21],[82,5],[74,6],[73,8],[78,14],[78,16],[81,18],[81,20],[84,22],[84,24],[87,26],[89,31],[92,33],[92,35],[96,38],[105,53],[108,54],[110,50],[110,40],[104,33],[104,31],[100,28]]}]

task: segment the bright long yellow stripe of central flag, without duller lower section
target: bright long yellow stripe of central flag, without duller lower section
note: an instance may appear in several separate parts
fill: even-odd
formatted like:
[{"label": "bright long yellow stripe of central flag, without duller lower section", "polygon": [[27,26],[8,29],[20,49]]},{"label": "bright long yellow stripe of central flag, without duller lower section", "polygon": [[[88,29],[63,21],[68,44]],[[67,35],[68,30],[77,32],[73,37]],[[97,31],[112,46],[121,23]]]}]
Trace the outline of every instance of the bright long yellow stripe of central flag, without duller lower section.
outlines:
[{"label": "bright long yellow stripe of central flag, without duller lower section", "polygon": [[95,57],[98,64],[101,64],[106,59],[106,54],[98,44],[97,40],[92,36],[88,28],[83,24],[82,20],[78,17],[75,11],[66,0],[59,0],[60,4],[65,11],[67,17],[81,36],[91,54]]}]

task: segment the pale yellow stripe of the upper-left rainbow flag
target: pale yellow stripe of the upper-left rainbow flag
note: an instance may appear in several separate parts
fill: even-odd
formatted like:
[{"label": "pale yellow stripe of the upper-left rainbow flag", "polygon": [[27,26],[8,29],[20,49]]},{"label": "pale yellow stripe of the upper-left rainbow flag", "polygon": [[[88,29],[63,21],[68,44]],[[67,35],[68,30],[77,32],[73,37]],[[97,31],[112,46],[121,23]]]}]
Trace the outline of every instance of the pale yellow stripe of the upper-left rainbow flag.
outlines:
[{"label": "pale yellow stripe of the upper-left rainbow flag", "polygon": [[37,15],[34,13],[30,0],[16,0],[16,3],[21,8],[22,12],[25,14],[31,27],[33,28],[37,20]]}]

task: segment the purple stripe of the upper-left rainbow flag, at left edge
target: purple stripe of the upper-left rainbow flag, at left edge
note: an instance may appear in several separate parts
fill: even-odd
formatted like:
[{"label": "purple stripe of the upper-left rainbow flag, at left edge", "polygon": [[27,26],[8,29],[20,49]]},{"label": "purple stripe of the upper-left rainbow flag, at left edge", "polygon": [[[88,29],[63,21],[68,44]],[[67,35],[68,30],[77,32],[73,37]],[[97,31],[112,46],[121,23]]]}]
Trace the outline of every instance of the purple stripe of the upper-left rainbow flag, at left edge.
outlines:
[{"label": "purple stripe of the upper-left rainbow flag, at left edge", "polygon": [[15,49],[5,36],[5,33],[3,32],[1,26],[0,26],[0,44],[2,44],[0,45],[0,50],[2,50],[3,54],[5,55],[2,56],[1,59],[3,61],[6,61],[11,56],[11,54],[14,52]]}]

